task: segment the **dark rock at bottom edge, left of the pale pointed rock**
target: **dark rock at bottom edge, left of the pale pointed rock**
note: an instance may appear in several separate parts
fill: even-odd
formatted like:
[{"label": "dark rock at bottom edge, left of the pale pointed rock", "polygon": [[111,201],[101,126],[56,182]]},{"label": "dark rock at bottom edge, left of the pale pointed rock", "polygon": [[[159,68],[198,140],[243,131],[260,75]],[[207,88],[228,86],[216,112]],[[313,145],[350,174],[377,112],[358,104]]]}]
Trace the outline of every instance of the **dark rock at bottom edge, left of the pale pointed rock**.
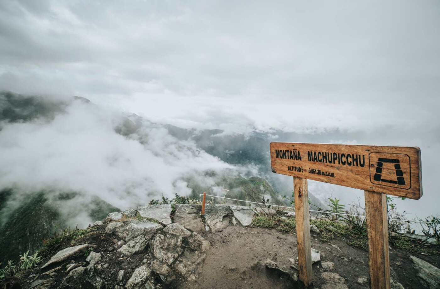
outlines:
[{"label": "dark rock at bottom edge, left of the pale pointed rock", "polygon": [[89,265],[70,271],[59,288],[105,289],[106,283],[99,277],[95,266]]}]

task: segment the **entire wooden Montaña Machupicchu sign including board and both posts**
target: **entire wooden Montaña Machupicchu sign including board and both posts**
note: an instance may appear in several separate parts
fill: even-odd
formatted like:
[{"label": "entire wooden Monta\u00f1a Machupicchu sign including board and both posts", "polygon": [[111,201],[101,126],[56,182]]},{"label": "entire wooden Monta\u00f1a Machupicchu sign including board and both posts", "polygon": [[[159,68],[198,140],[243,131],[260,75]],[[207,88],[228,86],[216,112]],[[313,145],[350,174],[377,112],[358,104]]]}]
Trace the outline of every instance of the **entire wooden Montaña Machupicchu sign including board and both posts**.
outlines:
[{"label": "entire wooden Monta\u00f1a Machupicchu sign including board and both posts", "polygon": [[293,176],[299,277],[312,284],[307,179],[365,190],[370,288],[389,289],[386,195],[422,197],[420,148],[272,142],[272,172]]}]

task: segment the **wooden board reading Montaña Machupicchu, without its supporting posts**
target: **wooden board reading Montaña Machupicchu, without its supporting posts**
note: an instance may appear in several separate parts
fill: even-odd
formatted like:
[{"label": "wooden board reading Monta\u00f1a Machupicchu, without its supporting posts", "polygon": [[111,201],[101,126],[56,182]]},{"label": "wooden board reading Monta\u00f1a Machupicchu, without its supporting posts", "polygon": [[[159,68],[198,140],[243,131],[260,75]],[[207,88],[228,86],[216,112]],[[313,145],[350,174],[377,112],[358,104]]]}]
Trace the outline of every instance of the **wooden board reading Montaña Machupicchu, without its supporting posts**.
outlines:
[{"label": "wooden board reading Monta\u00f1a Machupicchu, without its supporting posts", "polygon": [[422,196],[420,148],[272,142],[272,172],[410,199]]}]

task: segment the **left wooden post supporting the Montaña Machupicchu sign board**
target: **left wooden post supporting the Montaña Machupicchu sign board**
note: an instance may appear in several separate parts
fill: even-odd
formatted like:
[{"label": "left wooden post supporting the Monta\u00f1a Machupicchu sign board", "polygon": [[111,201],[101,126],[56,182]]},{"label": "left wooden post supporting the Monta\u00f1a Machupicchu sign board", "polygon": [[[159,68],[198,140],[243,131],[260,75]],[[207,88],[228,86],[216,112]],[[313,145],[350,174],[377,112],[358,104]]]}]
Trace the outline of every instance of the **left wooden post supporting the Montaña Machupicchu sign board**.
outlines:
[{"label": "left wooden post supporting the Monta\u00f1a Machupicchu sign board", "polygon": [[304,286],[308,287],[312,285],[312,249],[307,179],[293,177],[293,190],[295,192],[299,278],[304,282]]}]

